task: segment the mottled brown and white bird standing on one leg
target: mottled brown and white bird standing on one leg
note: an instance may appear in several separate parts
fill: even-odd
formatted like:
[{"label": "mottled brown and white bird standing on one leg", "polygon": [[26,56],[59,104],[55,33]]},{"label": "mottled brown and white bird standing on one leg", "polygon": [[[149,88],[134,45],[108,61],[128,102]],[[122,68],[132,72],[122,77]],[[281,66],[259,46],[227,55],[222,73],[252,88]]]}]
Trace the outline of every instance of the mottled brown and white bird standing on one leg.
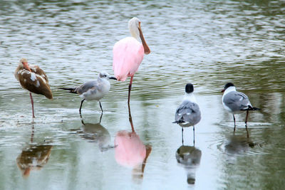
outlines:
[{"label": "mottled brown and white bird standing on one leg", "polygon": [[[53,99],[51,88],[48,85],[48,77],[38,65],[28,65],[26,58],[21,58],[18,68],[15,70],[15,78],[19,80],[21,86],[30,91],[31,108],[33,111],[33,97],[31,93],[46,96]],[[33,112],[33,118],[35,117]]]}]

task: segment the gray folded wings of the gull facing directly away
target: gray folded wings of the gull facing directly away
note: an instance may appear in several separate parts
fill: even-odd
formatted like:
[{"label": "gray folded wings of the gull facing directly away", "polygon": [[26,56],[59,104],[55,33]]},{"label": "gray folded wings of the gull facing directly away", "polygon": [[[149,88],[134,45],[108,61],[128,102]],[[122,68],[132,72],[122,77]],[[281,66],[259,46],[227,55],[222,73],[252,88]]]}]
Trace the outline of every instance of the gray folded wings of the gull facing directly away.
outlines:
[{"label": "gray folded wings of the gull facing directly away", "polygon": [[196,125],[201,120],[199,105],[195,102],[183,101],[175,113],[175,121],[189,122]]}]

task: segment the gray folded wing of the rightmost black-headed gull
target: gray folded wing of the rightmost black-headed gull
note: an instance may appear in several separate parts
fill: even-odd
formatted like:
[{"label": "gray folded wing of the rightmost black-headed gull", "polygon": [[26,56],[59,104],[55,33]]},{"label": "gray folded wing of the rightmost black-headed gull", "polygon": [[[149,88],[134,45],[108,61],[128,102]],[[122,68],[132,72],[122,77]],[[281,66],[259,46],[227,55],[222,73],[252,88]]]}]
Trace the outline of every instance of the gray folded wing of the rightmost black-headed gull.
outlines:
[{"label": "gray folded wing of the rightmost black-headed gull", "polygon": [[230,93],[227,93],[227,95],[224,95],[223,102],[224,105],[232,110],[232,112],[246,110],[249,108],[249,105],[252,106],[249,102],[249,97],[247,97],[247,95],[244,93],[237,91],[232,91]]}]

